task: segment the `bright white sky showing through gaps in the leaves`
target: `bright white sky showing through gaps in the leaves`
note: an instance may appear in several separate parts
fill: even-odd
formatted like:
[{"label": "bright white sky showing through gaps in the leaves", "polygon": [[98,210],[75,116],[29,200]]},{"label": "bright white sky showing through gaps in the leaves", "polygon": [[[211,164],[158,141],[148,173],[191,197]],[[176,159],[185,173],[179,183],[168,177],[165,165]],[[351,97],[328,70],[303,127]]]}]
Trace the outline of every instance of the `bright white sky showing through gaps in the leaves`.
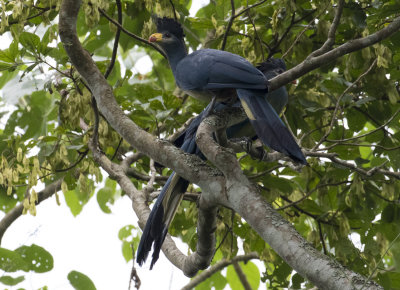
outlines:
[{"label": "bright white sky showing through gaps in the leaves", "polygon": [[[193,1],[190,15],[195,15],[197,10],[208,2],[209,0]],[[9,41],[7,36],[0,36],[2,46]],[[141,67],[146,67],[148,61],[148,58],[143,58],[136,64],[135,69],[143,72]],[[16,87],[14,89],[19,90]],[[127,263],[122,256],[122,243],[118,239],[118,232],[126,225],[137,226],[131,200],[126,196],[122,197],[111,206],[112,213],[105,214],[100,210],[94,196],[82,212],[74,217],[61,192],[59,196],[60,206],[53,196],[37,207],[35,217],[24,215],[18,218],[6,231],[1,245],[10,250],[22,245],[39,245],[52,254],[53,270],[43,274],[11,273],[13,277],[25,275],[25,281],[8,289],[38,289],[48,286],[51,290],[70,290],[73,287],[67,275],[72,270],[87,275],[98,290],[128,289],[132,261]],[[0,219],[3,216],[4,213],[0,212]],[[175,241],[178,247],[187,253],[187,246],[179,239]],[[189,278],[175,268],[163,253],[152,271],[149,270],[149,261],[143,267],[137,264],[135,266],[142,282],[140,289],[143,290],[180,289],[189,282]],[[4,272],[0,270],[0,277],[3,275]],[[0,289],[2,286],[3,284],[0,284]]]}]

